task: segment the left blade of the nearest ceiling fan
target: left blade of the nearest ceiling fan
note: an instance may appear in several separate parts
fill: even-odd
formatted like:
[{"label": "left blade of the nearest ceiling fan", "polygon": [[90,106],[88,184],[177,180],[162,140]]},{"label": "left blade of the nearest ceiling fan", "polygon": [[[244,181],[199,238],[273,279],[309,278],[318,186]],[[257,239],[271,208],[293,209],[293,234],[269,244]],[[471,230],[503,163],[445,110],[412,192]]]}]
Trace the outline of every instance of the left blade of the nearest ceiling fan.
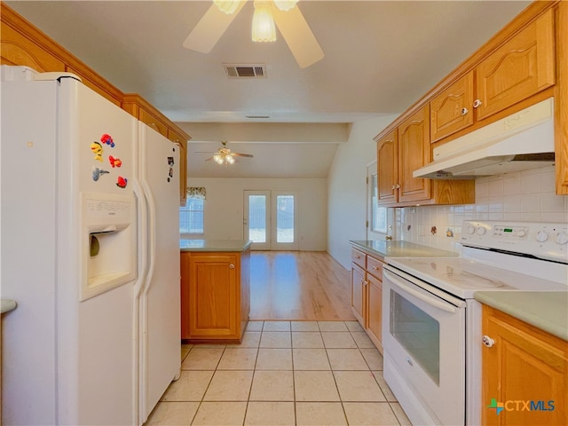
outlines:
[{"label": "left blade of the nearest ceiling fan", "polygon": [[225,30],[231,25],[234,18],[241,12],[242,6],[245,5],[246,0],[241,0],[241,4],[230,15],[221,12],[215,4],[211,4],[208,11],[197,22],[195,28],[189,33],[189,36],[183,43],[185,49],[192,51],[200,51],[201,53],[209,53],[213,46],[223,36]]}]

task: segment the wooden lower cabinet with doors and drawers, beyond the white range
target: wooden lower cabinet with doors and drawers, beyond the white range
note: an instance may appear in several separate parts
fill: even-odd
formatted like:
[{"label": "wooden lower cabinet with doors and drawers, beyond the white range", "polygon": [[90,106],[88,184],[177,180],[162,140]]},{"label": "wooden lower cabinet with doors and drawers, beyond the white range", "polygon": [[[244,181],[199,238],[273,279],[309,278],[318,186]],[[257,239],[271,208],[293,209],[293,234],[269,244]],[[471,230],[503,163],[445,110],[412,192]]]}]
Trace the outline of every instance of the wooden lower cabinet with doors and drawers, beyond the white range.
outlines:
[{"label": "wooden lower cabinet with doors and drawers, beyond the white range", "polygon": [[383,261],[351,248],[351,311],[383,353]]}]

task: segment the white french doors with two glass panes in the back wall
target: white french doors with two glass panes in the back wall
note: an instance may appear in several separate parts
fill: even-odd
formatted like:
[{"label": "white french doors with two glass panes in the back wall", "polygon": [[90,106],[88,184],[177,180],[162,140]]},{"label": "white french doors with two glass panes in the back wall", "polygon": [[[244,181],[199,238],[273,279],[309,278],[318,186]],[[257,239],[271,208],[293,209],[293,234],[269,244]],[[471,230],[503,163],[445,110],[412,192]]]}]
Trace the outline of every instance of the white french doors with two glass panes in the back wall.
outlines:
[{"label": "white french doors with two glass panes in the back wall", "polygon": [[245,191],[244,236],[253,250],[297,250],[295,191]]}]

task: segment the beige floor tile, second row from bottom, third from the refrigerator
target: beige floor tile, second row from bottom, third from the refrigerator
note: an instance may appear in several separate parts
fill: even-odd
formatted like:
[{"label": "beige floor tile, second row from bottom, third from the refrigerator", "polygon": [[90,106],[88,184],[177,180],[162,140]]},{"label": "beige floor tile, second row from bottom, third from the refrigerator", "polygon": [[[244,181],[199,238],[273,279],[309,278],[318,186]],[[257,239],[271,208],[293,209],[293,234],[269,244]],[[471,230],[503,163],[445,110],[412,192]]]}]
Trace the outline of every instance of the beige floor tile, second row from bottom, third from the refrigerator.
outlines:
[{"label": "beige floor tile, second row from bottom, third from the refrigerator", "polygon": [[250,401],[294,401],[294,375],[291,371],[255,371]]}]

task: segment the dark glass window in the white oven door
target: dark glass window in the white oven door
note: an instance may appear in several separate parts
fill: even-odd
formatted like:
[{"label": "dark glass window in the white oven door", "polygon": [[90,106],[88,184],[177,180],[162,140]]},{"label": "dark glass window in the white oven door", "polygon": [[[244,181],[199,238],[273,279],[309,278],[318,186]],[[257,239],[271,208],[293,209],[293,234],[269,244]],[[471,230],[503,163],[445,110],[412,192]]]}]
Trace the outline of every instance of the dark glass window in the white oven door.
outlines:
[{"label": "dark glass window in the white oven door", "polygon": [[390,335],[439,386],[440,325],[428,313],[393,290],[390,290]]}]

